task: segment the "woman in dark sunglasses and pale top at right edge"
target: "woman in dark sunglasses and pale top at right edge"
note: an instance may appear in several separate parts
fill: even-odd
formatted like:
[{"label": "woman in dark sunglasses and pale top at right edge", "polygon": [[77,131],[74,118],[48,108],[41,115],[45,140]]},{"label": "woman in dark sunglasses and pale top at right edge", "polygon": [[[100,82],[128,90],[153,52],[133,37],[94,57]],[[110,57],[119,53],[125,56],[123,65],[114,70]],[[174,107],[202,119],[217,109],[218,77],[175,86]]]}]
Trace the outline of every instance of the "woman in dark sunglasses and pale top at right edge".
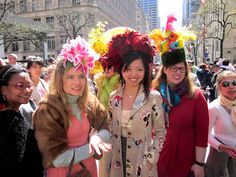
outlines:
[{"label": "woman in dark sunglasses and pale top at right edge", "polygon": [[216,80],[219,96],[209,104],[210,151],[207,177],[236,176],[236,73],[222,71]]}]

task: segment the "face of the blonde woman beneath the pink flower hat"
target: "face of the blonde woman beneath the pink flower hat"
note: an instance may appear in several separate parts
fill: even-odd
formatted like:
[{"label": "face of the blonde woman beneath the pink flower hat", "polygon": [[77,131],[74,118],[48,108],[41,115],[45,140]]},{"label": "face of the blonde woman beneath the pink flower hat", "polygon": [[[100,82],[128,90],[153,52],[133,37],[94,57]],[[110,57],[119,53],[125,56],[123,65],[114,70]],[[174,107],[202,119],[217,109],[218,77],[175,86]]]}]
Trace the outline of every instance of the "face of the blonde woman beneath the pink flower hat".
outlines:
[{"label": "face of the blonde woman beneath the pink flower hat", "polygon": [[63,78],[63,89],[69,95],[81,96],[86,87],[87,79],[82,70],[71,67]]}]

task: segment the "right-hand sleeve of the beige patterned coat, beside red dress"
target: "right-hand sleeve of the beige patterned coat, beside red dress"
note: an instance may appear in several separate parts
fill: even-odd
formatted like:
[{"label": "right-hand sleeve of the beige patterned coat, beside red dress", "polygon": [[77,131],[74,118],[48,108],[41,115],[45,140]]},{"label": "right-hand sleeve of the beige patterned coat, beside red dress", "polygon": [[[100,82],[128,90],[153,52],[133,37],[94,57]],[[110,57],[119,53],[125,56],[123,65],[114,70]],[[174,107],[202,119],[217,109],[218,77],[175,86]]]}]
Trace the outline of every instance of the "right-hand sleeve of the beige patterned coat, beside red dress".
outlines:
[{"label": "right-hand sleeve of the beige patterned coat, beside red dress", "polygon": [[152,99],[153,145],[148,150],[147,160],[151,164],[156,164],[159,159],[159,152],[163,147],[166,128],[164,123],[164,111],[162,109],[162,97],[158,94]]}]

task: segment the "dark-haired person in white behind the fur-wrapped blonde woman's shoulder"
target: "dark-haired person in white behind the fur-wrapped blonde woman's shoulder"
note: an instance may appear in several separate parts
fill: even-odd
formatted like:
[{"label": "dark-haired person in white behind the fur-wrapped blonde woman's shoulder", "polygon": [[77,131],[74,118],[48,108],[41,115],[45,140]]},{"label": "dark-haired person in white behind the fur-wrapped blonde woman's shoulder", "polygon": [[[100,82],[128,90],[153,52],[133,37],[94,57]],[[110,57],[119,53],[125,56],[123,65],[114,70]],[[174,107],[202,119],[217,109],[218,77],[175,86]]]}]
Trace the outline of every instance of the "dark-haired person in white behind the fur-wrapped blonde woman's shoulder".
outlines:
[{"label": "dark-haired person in white behind the fur-wrapped blonde woman's shoulder", "polygon": [[29,56],[27,57],[27,70],[34,83],[34,90],[32,93],[32,100],[39,104],[40,99],[48,92],[47,83],[41,79],[43,68],[43,59],[41,57]]}]

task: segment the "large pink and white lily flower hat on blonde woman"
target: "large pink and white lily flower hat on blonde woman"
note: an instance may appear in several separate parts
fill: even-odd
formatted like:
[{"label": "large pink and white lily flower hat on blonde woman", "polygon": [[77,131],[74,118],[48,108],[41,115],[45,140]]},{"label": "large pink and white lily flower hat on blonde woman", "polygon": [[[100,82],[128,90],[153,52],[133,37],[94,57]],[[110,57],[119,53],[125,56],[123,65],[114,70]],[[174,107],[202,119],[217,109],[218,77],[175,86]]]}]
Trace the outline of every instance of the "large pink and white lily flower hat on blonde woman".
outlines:
[{"label": "large pink and white lily flower hat on blonde woman", "polygon": [[82,69],[88,75],[88,71],[93,68],[94,60],[98,58],[98,55],[83,38],[78,36],[63,45],[59,57],[64,59],[65,68],[73,66],[76,70]]}]

